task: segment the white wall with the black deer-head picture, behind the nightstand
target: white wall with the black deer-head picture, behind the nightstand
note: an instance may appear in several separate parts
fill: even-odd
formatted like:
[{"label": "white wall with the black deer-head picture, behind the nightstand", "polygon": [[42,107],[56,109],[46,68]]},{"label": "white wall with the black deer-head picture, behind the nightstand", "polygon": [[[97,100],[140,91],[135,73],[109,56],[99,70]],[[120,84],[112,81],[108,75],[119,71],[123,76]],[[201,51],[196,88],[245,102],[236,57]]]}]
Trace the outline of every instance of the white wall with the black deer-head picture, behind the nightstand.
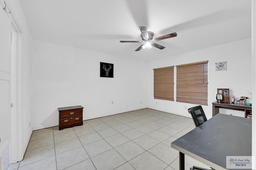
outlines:
[{"label": "white wall with the black deer-head picture, behind the nightstand", "polygon": [[[146,107],[146,63],[39,40],[33,48],[34,129],[57,126],[58,107],[81,105],[84,120]],[[114,64],[114,78],[100,77],[100,62]]]}]

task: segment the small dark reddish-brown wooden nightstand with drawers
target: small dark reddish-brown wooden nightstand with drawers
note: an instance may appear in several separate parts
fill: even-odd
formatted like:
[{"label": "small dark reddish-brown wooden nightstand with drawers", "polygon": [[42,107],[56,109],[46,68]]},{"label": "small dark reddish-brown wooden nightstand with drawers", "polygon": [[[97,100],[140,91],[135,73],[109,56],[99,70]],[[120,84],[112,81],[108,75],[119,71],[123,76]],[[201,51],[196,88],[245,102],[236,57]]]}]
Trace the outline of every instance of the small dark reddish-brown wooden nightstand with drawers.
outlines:
[{"label": "small dark reddish-brown wooden nightstand with drawers", "polygon": [[83,125],[82,106],[59,107],[59,130]]}]

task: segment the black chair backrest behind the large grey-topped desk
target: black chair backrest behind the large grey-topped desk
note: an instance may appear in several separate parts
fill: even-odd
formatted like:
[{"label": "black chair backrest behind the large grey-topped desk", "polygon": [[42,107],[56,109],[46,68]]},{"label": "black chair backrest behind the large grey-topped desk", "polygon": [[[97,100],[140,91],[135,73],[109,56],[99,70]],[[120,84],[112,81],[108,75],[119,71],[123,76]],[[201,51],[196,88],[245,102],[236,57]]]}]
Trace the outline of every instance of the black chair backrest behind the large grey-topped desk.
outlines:
[{"label": "black chair backrest behind the large grey-topped desk", "polygon": [[207,121],[202,106],[191,107],[188,109],[188,113],[191,114],[196,127]]}]

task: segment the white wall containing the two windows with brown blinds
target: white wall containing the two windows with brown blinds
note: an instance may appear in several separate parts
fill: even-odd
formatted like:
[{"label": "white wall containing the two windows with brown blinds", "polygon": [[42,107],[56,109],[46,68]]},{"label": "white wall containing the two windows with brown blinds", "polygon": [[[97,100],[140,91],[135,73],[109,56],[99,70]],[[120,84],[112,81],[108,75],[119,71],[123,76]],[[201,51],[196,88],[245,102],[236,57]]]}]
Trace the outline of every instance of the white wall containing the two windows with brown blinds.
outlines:
[{"label": "white wall containing the two windows with brown blinds", "polygon": [[[202,106],[208,119],[212,117],[212,102],[216,101],[217,88],[229,88],[230,95],[237,97],[251,97],[249,94],[249,92],[252,92],[251,45],[251,39],[244,39],[148,62],[147,106],[152,109],[190,117],[187,109],[196,105],[176,102],[176,92],[174,92],[174,102],[154,99],[153,68],[200,61],[208,61],[208,106]],[[227,61],[227,70],[215,71],[215,63],[222,61]],[[174,88],[176,89],[175,84]]]}]

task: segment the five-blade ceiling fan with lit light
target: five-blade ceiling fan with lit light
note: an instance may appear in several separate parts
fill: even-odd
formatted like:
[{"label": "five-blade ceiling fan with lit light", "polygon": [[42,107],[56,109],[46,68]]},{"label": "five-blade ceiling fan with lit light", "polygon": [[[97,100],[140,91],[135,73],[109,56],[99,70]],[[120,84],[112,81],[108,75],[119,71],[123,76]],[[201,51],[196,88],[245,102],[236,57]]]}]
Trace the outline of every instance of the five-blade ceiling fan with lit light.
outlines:
[{"label": "five-blade ceiling fan with lit light", "polygon": [[177,36],[177,33],[174,32],[174,33],[170,33],[170,34],[167,34],[167,35],[162,35],[160,37],[157,37],[157,38],[153,39],[154,33],[148,31],[147,27],[140,26],[139,28],[140,28],[140,32],[141,32],[142,41],[120,41],[120,43],[143,43],[135,51],[140,51],[141,49],[145,49],[145,48],[150,49],[152,47],[156,47],[156,48],[162,50],[162,49],[165,48],[164,46],[153,43],[153,42]]}]

